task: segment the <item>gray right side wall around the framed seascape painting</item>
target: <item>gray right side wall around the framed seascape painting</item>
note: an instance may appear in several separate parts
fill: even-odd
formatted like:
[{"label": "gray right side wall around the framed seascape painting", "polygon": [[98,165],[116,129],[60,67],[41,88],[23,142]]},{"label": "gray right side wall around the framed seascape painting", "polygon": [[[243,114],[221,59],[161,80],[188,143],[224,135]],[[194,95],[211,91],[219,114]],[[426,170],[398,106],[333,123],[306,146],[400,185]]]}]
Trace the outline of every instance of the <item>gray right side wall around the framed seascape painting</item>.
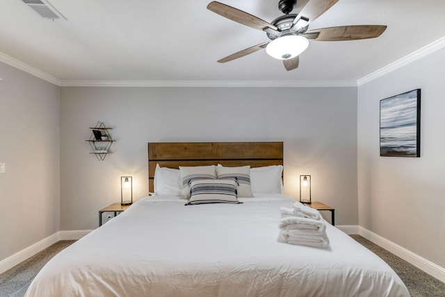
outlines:
[{"label": "gray right side wall around the framed seascape painting", "polygon": [[[359,87],[359,225],[445,267],[445,49]],[[379,102],[421,88],[421,157],[381,157]]]}]

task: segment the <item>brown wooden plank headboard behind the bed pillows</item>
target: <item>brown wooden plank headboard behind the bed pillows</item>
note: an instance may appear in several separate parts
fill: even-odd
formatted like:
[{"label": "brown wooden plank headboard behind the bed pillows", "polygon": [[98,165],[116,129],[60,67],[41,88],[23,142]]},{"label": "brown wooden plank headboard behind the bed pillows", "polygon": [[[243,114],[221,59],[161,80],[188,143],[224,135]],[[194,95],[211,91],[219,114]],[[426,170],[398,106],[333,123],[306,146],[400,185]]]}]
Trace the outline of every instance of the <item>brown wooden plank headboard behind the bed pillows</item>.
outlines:
[{"label": "brown wooden plank headboard behind the bed pillows", "polygon": [[283,165],[282,142],[148,143],[149,192],[154,191],[156,163],[161,167]]}]

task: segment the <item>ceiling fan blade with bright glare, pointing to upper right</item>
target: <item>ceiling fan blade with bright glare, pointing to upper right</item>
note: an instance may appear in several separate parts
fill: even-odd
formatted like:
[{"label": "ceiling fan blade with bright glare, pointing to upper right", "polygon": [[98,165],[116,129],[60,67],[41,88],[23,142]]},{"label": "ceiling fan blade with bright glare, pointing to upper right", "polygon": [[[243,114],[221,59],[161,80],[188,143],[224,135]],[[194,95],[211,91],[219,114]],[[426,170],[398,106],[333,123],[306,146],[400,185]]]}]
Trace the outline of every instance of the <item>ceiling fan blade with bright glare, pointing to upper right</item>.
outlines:
[{"label": "ceiling fan blade with bright glare, pointing to upper right", "polygon": [[317,17],[323,15],[323,13],[338,1],[339,0],[309,0],[293,20],[291,31],[295,32],[310,22],[314,22]]}]

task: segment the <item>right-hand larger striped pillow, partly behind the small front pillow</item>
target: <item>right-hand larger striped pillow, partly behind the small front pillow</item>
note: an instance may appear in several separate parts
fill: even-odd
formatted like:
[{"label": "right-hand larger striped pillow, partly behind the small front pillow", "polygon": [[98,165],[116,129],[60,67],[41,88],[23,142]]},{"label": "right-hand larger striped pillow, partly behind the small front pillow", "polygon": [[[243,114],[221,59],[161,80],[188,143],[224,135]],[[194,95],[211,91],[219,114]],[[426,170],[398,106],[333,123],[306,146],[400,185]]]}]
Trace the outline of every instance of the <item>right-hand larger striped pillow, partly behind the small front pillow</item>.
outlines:
[{"label": "right-hand larger striped pillow, partly behind the small front pillow", "polygon": [[250,166],[224,167],[216,166],[218,179],[234,179],[238,182],[238,197],[252,197],[250,189]]}]

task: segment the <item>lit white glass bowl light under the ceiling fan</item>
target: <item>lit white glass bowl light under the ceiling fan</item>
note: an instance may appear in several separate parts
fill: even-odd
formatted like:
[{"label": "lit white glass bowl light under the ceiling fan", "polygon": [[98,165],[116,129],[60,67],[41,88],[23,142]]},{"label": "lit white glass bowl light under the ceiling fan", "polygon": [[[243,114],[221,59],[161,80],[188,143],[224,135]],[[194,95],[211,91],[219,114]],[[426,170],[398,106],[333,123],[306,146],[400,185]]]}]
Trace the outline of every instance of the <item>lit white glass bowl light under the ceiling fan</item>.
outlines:
[{"label": "lit white glass bowl light under the ceiling fan", "polygon": [[278,60],[287,60],[299,56],[309,47],[309,40],[300,35],[284,35],[272,40],[266,47],[266,53]]}]

